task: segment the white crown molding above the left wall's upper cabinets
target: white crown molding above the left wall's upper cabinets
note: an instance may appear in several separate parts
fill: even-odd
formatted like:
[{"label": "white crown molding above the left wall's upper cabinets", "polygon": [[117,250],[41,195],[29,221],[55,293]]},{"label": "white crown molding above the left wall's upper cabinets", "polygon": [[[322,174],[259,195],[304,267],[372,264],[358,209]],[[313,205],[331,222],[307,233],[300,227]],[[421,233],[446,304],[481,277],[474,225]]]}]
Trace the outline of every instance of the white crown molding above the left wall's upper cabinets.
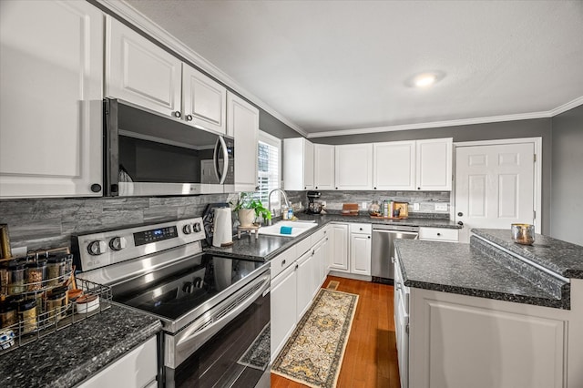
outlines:
[{"label": "white crown molding above the left wall's upper cabinets", "polygon": [[133,26],[138,27],[141,31],[148,34],[152,38],[159,41],[160,44],[167,46],[170,50],[179,54],[179,56],[183,56],[185,59],[189,60],[193,65],[198,66],[201,70],[208,73],[210,76],[216,78],[226,87],[230,87],[235,92],[239,93],[241,96],[249,99],[251,103],[255,104],[257,107],[261,107],[261,109],[265,110],[271,116],[280,120],[283,124],[287,125],[288,127],[292,128],[304,138],[308,137],[308,133],[303,130],[303,128],[299,127],[297,124],[292,122],[286,117],[281,116],[281,114],[270,107],[267,103],[261,100],[261,98],[253,95],[250,91],[246,90],[244,87],[241,87],[234,79],[232,79],[229,75],[224,73],[220,70],[219,67],[214,66],[210,63],[207,59],[203,56],[200,56],[196,51],[192,50],[189,46],[186,46],[182,43],[179,39],[175,36],[169,34],[161,26],[154,23],[148,16],[139,12],[136,8],[131,5],[128,5],[124,1],[120,0],[96,0],[99,5],[104,6],[109,11],[115,13],[119,17],[122,17],[128,23],[132,24]]}]

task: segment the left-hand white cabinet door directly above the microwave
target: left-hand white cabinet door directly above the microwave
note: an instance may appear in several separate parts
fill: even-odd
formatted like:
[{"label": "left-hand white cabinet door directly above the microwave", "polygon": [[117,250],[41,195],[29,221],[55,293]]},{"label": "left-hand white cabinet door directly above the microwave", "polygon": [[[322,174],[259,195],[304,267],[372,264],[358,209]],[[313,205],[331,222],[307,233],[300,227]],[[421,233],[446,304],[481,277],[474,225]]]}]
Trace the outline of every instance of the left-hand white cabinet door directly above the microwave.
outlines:
[{"label": "left-hand white cabinet door directly above the microwave", "polygon": [[177,57],[111,16],[106,45],[107,97],[180,117],[182,63]]}]

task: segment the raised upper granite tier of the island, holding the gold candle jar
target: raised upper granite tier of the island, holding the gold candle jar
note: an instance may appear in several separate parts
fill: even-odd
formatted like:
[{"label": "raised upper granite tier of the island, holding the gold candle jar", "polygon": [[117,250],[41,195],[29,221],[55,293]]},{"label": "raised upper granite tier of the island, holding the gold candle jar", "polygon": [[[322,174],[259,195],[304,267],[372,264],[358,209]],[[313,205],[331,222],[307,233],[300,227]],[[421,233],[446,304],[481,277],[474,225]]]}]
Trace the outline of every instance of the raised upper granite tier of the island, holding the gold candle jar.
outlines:
[{"label": "raised upper granite tier of the island, holding the gold candle jar", "polygon": [[580,245],[542,234],[535,235],[533,245],[520,245],[512,240],[510,230],[473,229],[472,232],[560,276],[583,279],[583,247]]}]

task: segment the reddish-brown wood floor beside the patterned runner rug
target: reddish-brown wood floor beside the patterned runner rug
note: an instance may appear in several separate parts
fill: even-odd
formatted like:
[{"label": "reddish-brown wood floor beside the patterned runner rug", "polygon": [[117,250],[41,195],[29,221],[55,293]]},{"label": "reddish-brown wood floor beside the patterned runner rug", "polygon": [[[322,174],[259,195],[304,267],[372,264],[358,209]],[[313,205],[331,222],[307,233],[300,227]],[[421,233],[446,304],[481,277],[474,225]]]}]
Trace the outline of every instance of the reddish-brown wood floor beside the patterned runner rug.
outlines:
[{"label": "reddish-brown wood floor beside the patterned runner rug", "polygon": [[[399,388],[394,343],[393,287],[334,276],[329,276],[323,287],[327,287],[329,281],[340,282],[338,291],[360,296],[337,386]],[[271,374],[272,388],[304,386]]]}]

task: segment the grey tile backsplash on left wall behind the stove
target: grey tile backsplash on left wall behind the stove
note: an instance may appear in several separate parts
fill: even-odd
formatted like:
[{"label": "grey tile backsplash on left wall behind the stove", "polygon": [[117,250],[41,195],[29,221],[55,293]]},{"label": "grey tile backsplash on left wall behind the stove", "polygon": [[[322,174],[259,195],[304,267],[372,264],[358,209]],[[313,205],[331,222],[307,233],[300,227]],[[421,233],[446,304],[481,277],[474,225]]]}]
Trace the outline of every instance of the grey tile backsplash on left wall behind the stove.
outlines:
[{"label": "grey tile backsplash on left wall behind the stove", "polygon": [[12,248],[49,249],[70,245],[71,235],[102,229],[199,217],[208,203],[237,194],[191,197],[3,199],[0,223],[8,224]]}]

